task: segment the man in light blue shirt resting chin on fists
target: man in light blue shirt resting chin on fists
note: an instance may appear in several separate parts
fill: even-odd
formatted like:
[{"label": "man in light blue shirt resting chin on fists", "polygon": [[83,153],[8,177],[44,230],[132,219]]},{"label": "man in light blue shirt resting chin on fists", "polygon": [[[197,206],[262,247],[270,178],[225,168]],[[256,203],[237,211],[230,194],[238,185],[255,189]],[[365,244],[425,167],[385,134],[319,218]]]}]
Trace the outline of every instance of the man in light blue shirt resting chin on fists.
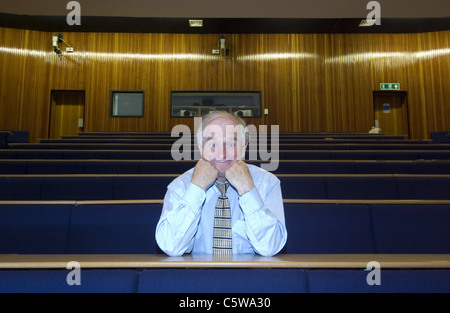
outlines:
[{"label": "man in light blue shirt resting chin on fists", "polygon": [[280,181],[243,159],[245,122],[227,112],[202,119],[202,158],[167,187],[156,241],[166,254],[277,254],[285,245]]}]

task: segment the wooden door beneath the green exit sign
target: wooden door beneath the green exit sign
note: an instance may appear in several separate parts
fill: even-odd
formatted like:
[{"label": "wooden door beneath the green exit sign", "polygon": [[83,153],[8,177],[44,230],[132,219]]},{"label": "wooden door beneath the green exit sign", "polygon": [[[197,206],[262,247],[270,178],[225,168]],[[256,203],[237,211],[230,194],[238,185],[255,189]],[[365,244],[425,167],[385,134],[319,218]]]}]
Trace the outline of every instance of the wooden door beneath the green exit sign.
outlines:
[{"label": "wooden door beneath the green exit sign", "polygon": [[409,138],[407,94],[404,91],[374,91],[375,127],[387,135]]}]

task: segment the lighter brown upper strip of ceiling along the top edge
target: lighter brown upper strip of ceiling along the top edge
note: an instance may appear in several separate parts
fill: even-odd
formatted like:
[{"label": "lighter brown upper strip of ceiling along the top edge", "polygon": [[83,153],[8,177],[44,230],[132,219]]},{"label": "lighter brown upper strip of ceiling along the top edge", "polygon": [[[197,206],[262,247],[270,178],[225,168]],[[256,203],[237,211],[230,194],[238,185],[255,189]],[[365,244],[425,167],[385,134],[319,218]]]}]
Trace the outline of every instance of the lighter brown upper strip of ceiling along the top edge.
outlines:
[{"label": "lighter brown upper strip of ceiling along the top edge", "polygon": [[[0,12],[67,15],[70,0],[0,0]],[[83,16],[362,18],[370,0],[78,0]],[[378,0],[385,18],[450,17],[449,0]]]}]

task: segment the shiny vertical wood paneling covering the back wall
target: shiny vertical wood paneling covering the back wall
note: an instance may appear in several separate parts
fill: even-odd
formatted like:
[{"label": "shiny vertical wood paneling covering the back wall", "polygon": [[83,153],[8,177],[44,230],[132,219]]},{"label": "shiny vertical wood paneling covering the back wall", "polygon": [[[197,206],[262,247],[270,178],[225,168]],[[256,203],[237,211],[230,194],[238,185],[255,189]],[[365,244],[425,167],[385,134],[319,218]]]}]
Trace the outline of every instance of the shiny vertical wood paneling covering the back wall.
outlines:
[{"label": "shiny vertical wood paneling covering the back wall", "polygon": [[[52,90],[84,90],[85,131],[170,131],[170,90],[261,90],[269,115],[248,123],[280,131],[368,131],[373,91],[400,83],[411,138],[450,129],[450,31],[419,34],[52,33],[0,28],[0,129],[48,136]],[[63,47],[62,44],[60,44]],[[143,118],[111,118],[111,90],[145,90]]]}]

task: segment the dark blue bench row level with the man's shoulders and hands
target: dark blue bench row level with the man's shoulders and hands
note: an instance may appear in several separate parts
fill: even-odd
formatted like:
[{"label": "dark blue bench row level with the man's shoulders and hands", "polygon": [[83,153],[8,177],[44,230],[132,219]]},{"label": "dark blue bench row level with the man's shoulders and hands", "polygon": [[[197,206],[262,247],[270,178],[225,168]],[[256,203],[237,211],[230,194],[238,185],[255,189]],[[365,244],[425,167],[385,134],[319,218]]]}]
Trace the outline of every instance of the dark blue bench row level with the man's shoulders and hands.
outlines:
[{"label": "dark blue bench row level with the man's shoulders and hands", "polygon": [[[0,176],[0,200],[162,199],[176,175]],[[450,199],[450,175],[278,175],[285,199]]]}]

